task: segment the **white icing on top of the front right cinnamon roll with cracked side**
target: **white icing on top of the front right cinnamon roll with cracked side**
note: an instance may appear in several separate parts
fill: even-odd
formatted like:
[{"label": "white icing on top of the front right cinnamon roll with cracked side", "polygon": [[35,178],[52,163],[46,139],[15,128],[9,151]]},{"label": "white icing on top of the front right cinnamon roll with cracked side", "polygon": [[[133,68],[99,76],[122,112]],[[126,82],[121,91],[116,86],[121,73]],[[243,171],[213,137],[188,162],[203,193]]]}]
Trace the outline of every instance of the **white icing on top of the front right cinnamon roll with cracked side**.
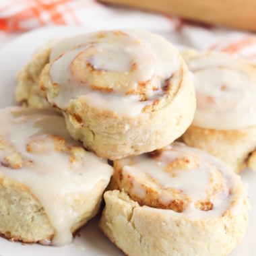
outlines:
[{"label": "white icing on top of the front right cinnamon roll with cracked side", "polygon": [[[164,170],[173,160],[184,157],[191,160],[187,168],[173,168],[172,174],[175,175]],[[196,161],[198,165],[193,164],[193,161]],[[183,212],[162,210],[164,212],[177,216],[185,215],[189,218],[216,218],[228,210],[232,214],[237,214],[243,206],[241,202],[245,198],[246,191],[241,183],[241,178],[220,160],[195,148],[185,146],[183,143],[172,143],[157,158],[150,158],[147,154],[143,154],[134,158],[125,158],[119,162],[123,165],[122,170],[126,176],[129,174],[131,177],[135,177],[135,180],[143,181],[147,175],[156,180],[162,189],[179,189],[186,198],[189,198],[189,204]],[[218,175],[216,176],[216,174]],[[134,186],[133,193],[139,198],[143,198],[146,195],[143,188],[135,182],[132,184]],[[210,186],[213,188],[214,185],[220,184],[224,186],[219,187],[217,191],[216,189],[209,191]],[[231,195],[230,189],[233,191]],[[209,196],[214,205],[212,210],[203,211],[195,207],[197,201],[204,200]],[[168,203],[170,199],[172,199],[172,195],[164,193],[161,201]],[[154,209],[148,206],[143,207]]]}]

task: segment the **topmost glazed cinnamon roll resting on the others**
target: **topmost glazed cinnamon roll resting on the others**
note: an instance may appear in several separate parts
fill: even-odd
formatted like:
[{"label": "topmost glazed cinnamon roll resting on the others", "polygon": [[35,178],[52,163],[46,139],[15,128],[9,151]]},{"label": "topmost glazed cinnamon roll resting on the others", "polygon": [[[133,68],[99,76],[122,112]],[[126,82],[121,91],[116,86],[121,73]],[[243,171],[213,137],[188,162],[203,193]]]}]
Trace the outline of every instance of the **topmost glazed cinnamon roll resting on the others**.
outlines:
[{"label": "topmost glazed cinnamon roll resting on the others", "polygon": [[102,31],[62,40],[40,74],[74,139],[112,160],[168,145],[195,113],[191,75],[164,38]]}]

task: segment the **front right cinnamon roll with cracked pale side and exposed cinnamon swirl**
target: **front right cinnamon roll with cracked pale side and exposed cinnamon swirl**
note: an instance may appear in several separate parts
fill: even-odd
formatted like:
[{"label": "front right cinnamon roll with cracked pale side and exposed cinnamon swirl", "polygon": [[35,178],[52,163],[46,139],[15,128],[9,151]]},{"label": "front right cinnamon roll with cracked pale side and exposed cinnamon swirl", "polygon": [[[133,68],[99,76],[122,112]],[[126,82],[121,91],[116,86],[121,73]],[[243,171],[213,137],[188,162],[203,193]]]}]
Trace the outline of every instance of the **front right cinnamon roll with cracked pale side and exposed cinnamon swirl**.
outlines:
[{"label": "front right cinnamon roll with cracked pale side and exposed cinnamon swirl", "polygon": [[243,238],[247,192],[217,158],[172,143],[114,169],[100,228],[126,255],[224,256]]}]

